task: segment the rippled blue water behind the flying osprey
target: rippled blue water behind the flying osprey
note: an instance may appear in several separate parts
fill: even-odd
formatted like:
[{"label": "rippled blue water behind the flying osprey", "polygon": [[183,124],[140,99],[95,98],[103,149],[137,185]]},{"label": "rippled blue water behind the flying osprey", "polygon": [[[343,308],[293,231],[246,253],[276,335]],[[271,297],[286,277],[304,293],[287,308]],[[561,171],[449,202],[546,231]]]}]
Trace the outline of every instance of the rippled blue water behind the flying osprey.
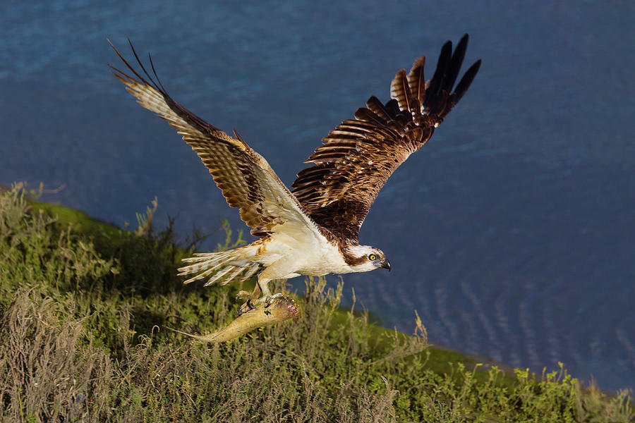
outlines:
[{"label": "rippled blue water behind the flying osprey", "polygon": [[289,184],[330,129],[388,99],[399,68],[469,32],[480,73],[361,230],[393,271],[346,289],[401,331],[417,310],[433,343],[635,388],[633,2],[226,3],[1,3],[0,183],[65,184],[45,200],[121,226],[157,195],[183,236],[241,228],[191,149],[110,75],[107,37],[152,51],[177,101],[236,128]]}]

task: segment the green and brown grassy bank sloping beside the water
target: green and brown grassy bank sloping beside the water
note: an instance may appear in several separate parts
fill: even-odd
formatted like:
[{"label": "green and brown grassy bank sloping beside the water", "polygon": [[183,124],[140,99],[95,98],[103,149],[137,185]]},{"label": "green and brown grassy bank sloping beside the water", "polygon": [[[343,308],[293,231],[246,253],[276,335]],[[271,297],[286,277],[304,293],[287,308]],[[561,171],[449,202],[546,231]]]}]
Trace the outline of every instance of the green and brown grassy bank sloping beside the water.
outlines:
[{"label": "green and brown grassy bank sloping beside the water", "polygon": [[[121,231],[0,194],[0,420],[24,422],[628,422],[560,368],[511,377],[341,309],[341,283],[307,281],[298,321],[220,345],[241,286],[183,286],[171,224]],[[226,243],[240,243],[228,230]],[[250,282],[253,284],[253,281]]]}]

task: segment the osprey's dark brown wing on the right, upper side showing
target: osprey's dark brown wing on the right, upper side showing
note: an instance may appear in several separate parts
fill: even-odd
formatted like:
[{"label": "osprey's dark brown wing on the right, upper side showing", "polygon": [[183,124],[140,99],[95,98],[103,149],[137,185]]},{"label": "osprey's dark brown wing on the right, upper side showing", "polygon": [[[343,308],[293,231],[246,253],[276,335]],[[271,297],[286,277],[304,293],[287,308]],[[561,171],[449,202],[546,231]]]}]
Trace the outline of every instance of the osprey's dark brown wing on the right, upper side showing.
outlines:
[{"label": "osprey's dark brown wing on the right, upper side showing", "polygon": [[[357,238],[370,206],[397,167],[421,148],[435,128],[467,91],[480,60],[452,87],[463,63],[468,35],[452,53],[452,42],[441,49],[437,69],[424,82],[425,56],[409,74],[397,72],[390,96],[382,104],[370,97],[355,118],[343,121],[322,140],[291,187],[311,219],[337,235]],[[451,93],[451,94],[450,94]]]}]

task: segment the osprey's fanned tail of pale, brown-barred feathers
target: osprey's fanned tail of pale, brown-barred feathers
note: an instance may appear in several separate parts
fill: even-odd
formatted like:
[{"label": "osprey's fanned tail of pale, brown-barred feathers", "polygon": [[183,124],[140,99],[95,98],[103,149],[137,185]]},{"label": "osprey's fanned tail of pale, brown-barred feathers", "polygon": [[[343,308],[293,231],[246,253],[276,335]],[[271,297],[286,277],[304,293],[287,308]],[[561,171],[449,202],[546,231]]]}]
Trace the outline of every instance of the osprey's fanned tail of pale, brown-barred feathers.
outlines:
[{"label": "osprey's fanned tail of pale, brown-barred feathers", "polygon": [[218,281],[221,285],[232,281],[246,281],[262,269],[262,264],[251,261],[256,255],[258,255],[258,245],[253,244],[229,251],[198,252],[195,253],[195,257],[183,259],[183,262],[193,264],[181,267],[179,276],[195,274],[184,282],[190,283],[211,275],[205,282],[205,286]]}]

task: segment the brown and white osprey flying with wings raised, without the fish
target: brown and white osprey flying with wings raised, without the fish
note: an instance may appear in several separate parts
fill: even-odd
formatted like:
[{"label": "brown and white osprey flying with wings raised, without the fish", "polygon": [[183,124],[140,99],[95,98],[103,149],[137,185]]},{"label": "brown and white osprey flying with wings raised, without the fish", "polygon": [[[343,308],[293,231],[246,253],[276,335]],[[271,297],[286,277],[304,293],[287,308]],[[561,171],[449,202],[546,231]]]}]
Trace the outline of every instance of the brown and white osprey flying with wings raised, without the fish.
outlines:
[{"label": "brown and white osprey flying with wings raised, without the fish", "polygon": [[[209,278],[205,286],[245,281],[258,274],[252,294],[241,298],[271,300],[267,286],[274,279],[390,270],[385,254],[358,242],[358,231],[370,206],[389,176],[430,140],[435,128],[459,102],[480,67],[476,61],[452,92],[463,62],[468,35],[452,51],[446,42],[433,78],[425,81],[425,56],[411,71],[397,72],[390,85],[392,99],[383,104],[370,97],[353,119],[347,119],[322,140],[322,145],[298,173],[292,190],[280,181],[267,161],[247,145],[203,121],[176,103],[155,71],[152,78],[137,56],[141,75],[112,48],[133,73],[117,68],[113,74],[145,109],[172,125],[191,145],[222,190],[227,203],[238,207],[241,219],[258,237],[234,250],[197,253],[184,259],[179,275],[194,275],[185,283]],[[247,303],[249,305],[249,301]]]}]

